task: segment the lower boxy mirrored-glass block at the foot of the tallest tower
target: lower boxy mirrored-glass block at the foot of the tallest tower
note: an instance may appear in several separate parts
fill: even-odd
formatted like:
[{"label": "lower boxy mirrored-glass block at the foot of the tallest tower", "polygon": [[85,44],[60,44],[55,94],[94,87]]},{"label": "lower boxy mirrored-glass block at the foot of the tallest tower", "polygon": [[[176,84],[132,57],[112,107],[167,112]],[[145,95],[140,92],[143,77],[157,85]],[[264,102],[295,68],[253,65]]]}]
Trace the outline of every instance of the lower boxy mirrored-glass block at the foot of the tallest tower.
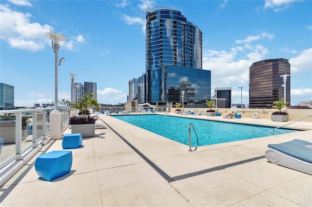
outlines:
[{"label": "lower boxy mirrored-glass block at the foot of the tallest tower", "polygon": [[180,66],[164,67],[164,100],[165,102],[205,103],[211,99],[211,71],[188,69]]}]

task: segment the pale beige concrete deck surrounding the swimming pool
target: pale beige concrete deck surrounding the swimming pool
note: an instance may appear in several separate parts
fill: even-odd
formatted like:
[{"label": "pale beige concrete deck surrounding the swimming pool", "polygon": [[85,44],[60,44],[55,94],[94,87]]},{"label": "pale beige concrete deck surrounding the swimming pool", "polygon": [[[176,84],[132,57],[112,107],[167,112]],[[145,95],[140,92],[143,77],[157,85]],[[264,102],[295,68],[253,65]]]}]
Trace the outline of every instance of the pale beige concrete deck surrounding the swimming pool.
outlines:
[{"label": "pale beige concrete deck surrounding the swimming pool", "polygon": [[[170,115],[258,125],[286,124]],[[294,138],[312,142],[311,122],[290,124],[307,131],[202,146],[189,152],[189,146],[114,117],[101,114],[99,118],[97,123],[108,128],[97,128],[94,138],[84,138],[83,146],[72,150],[69,174],[51,182],[38,178],[36,158],[62,150],[62,140],[51,140],[0,189],[0,206],[312,206],[312,175],[274,165],[264,157],[268,144]],[[70,129],[65,133],[70,134]]]}]

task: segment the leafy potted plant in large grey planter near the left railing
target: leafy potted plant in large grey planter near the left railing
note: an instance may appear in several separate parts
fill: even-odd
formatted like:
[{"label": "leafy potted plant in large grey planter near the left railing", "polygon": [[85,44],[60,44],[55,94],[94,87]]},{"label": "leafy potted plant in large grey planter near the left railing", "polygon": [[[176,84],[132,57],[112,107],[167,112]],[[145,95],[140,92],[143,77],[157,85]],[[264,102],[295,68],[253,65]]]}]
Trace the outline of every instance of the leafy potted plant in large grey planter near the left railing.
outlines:
[{"label": "leafy potted plant in large grey planter near the left railing", "polygon": [[74,103],[62,100],[63,104],[71,107],[71,109],[78,109],[81,113],[79,116],[73,116],[69,118],[72,134],[80,133],[83,138],[95,136],[95,122],[97,120],[93,117],[87,116],[88,107],[94,106],[96,107],[97,111],[99,111],[98,100],[93,98],[93,95],[94,93],[92,91],[88,91],[84,94],[81,101]]}]

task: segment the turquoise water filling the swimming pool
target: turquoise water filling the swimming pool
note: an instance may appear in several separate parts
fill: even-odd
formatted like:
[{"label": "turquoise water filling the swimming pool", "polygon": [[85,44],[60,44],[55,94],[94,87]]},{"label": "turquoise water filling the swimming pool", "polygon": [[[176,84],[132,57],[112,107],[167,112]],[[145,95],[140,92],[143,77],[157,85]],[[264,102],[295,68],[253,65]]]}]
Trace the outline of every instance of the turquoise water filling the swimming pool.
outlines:
[{"label": "turquoise water filling the swimming pool", "polygon": [[[119,115],[114,117],[185,145],[189,145],[189,124],[191,122],[194,125],[199,146],[295,132],[291,129],[276,129],[273,133],[273,127],[267,126],[162,115]],[[197,146],[197,140],[192,126],[191,138],[192,146]]]}]

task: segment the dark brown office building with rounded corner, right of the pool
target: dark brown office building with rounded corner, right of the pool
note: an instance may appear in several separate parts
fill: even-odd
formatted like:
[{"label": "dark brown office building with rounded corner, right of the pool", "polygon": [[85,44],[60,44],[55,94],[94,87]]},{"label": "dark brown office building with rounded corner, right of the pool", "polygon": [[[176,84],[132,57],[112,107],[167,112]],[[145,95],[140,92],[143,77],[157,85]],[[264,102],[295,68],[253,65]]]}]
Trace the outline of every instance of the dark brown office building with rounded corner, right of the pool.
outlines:
[{"label": "dark brown office building with rounded corner, right of the pool", "polygon": [[[249,68],[249,107],[268,108],[268,104],[284,98],[283,77],[291,74],[287,59],[268,59],[255,62]],[[291,102],[291,76],[286,83],[286,101]]]}]

